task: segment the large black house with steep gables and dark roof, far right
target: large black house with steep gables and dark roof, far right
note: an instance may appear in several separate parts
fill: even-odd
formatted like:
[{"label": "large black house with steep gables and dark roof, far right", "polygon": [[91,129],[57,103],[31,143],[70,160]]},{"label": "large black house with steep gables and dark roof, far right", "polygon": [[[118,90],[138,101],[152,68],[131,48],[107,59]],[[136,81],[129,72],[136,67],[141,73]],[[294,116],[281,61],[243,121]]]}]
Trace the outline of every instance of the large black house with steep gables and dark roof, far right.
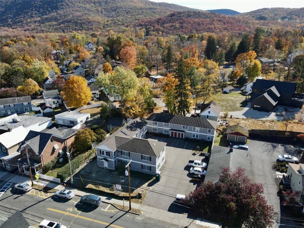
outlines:
[{"label": "large black house with steep gables and dark roof, far right", "polygon": [[301,108],[304,95],[297,94],[294,82],[257,79],[252,85],[251,109],[272,112],[277,105]]}]

